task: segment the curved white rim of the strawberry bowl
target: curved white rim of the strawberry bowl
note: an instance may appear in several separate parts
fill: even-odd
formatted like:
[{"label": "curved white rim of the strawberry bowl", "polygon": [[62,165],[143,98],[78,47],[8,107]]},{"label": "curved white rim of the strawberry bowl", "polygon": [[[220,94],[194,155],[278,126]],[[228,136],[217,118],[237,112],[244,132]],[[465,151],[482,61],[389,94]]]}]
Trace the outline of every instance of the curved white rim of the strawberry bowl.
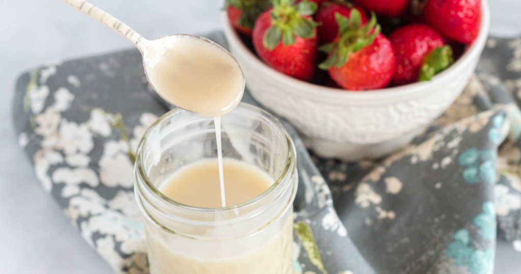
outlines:
[{"label": "curved white rim of the strawberry bowl", "polygon": [[454,62],[454,64],[452,64],[449,68],[445,69],[443,72],[433,77],[432,80],[426,82],[415,82],[412,84],[392,88],[354,91],[312,84],[306,81],[295,79],[291,76],[282,74],[275,69],[272,69],[264,62],[262,62],[261,59],[255,56],[255,54],[244,45],[244,43],[239,38],[237,32],[235,32],[231,27],[230,22],[228,20],[228,16],[226,14],[226,10],[222,11],[221,17],[223,20],[224,31],[226,36],[228,37],[229,43],[232,42],[235,45],[237,45],[238,49],[241,51],[239,54],[245,55],[246,58],[250,59],[253,65],[255,65],[259,70],[261,70],[262,73],[265,73],[266,75],[274,78],[275,80],[284,81],[285,84],[291,87],[291,89],[285,89],[288,92],[299,94],[299,96],[313,98],[314,100],[320,98],[321,100],[327,100],[333,103],[340,103],[338,102],[338,100],[363,101],[367,99],[370,99],[374,103],[375,101],[386,101],[391,99],[396,100],[397,98],[410,97],[414,93],[418,93],[419,95],[421,95],[421,93],[423,92],[428,92],[429,90],[436,89],[438,88],[440,83],[451,81],[452,77],[454,77],[459,71],[468,66],[469,63],[471,63],[474,60],[474,58],[479,58],[479,55],[483,47],[485,47],[485,42],[488,38],[490,28],[489,5],[487,0],[482,0],[480,18],[481,22],[478,37],[476,38],[474,43],[470,45],[470,47],[467,47],[462,56],[460,56],[460,58],[458,58],[456,62]]}]

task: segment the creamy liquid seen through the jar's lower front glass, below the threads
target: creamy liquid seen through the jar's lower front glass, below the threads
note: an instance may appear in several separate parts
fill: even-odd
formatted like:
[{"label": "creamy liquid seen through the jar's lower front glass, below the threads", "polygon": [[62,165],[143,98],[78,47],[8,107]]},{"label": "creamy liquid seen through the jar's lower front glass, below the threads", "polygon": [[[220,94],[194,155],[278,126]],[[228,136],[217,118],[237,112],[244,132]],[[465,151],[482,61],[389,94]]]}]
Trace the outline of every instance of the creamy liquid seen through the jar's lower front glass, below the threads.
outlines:
[{"label": "creamy liquid seen through the jar's lower front glass, below the threads", "polygon": [[[291,212],[287,212],[291,213]],[[283,222],[281,222],[283,221]],[[152,274],[291,274],[293,218],[283,216],[272,229],[247,240],[203,242],[145,229]],[[245,224],[247,225],[247,224]]]}]

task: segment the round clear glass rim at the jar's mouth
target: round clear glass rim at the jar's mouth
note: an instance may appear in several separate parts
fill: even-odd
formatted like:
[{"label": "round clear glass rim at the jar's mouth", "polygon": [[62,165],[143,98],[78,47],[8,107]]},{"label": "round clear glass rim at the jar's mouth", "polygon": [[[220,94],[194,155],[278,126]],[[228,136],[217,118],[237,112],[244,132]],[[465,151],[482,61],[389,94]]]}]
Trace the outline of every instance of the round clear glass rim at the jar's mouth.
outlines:
[{"label": "round clear glass rim at the jar's mouth", "polygon": [[[286,130],[286,128],[284,128],[284,126],[282,125],[282,123],[279,121],[279,119],[277,117],[275,117],[274,115],[270,114],[269,112],[267,112],[261,108],[258,108],[257,106],[241,102],[241,103],[239,103],[239,105],[237,105],[237,108],[238,109],[239,108],[247,109],[247,110],[251,110],[251,111],[258,111],[261,114],[261,116],[265,116],[268,118],[269,121],[273,122],[276,125],[276,127],[279,129],[279,131],[283,134],[284,139],[286,139],[286,145],[288,148],[288,152],[287,152],[287,156],[286,156],[286,166],[284,167],[284,170],[281,172],[280,176],[275,180],[275,182],[273,184],[271,184],[270,187],[268,187],[268,189],[266,189],[262,194],[258,195],[257,197],[255,197],[251,200],[242,202],[241,204],[226,206],[226,207],[217,207],[217,208],[203,208],[203,207],[185,205],[185,204],[182,204],[181,202],[178,202],[176,200],[169,198],[168,196],[166,196],[165,194],[160,192],[160,190],[151,182],[150,178],[148,178],[148,174],[144,170],[143,159],[142,159],[144,155],[143,155],[142,151],[145,146],[146,140],[148,138],[150,138],[150,135],[154,132],[155,128],[157,128],[161,123],[166,121],[168,118],[175,116],[176,114],[179,114],[182,112],[188,112],[181,108],[176,108],[176,109],[170,110],[167,113],[160,116],[150,127],[148,127],[148,129],[146,130],[145,134],[143,135],[143,137],[141,138],[141,140],[139,142],[137,153],[136,153],[136,159],[135,159],[135,172],[140,176],[141,181],[143,182],[146,189],[148,191],[150,191],[156,198],[160,199],[163,202],[166,202],[169,206],[178,207],[181,209],[194,211],[194,212],[202,212],[202,213],[232,211],[237,208],[248,207],[248,206],[254,205],[256,202],[258,202],[259,200],[262,200],[263,198],[268,196],[270,193],[272,193],[276,189],[278,189],[282,185],[282,182],[285,180],[285,178],[288,175],[291,175],[290,173],[294,170],[294,167],[296,165],[295,164],[295,148],[294,148],[293,141],[291,140],[291,137],[290,137],[288,131]],[[139,181],[140,180],[137,181],[138,184],[139,184]],[[139,188],[139,186],[138,186],[138,188]]]}]

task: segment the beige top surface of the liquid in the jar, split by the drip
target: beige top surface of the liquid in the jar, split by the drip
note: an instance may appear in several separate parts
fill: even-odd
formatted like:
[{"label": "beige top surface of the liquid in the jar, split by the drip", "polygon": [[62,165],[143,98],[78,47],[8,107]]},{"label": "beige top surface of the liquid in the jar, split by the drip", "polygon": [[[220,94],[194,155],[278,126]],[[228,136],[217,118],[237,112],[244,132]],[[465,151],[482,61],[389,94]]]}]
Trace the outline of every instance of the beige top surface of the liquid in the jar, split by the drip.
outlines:
[{"label": "beige top surface of the liquid in the jar, split by the drip", "polygon": [[[274,182],[266,172],[238,160],[225,158],[222,167],[227,206],[242,204],[261,195]],[[210,159],[185,166],[167,178],[159,190],[188,206],[221,207],[218,162]]]}]

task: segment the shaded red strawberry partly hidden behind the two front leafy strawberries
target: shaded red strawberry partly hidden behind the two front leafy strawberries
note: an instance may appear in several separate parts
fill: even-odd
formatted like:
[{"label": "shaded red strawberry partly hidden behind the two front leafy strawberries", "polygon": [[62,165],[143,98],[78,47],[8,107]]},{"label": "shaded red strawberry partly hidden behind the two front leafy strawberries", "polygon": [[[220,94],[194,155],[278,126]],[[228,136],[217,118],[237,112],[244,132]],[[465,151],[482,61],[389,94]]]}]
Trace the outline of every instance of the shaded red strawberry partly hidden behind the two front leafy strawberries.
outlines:
[{"label": "shaded red strawberry partly hidden behind the two front leafy strawberries", "polygon": [[334,15],[338,13],[349,18],[349,14],[353,8],[359,11],[362,17],[362,23],[365,24],[365,22],[367,22],[367,16],[361,8],[353,7],[352,5],[340,5],[329,2],[326,2],[324,5],[320,6],[317,13],[315,14],[315,21],[320,24],[317,28],[318,44],[321,45],[333,42],[333,40],[338,35],[338,25],[337,21],[334,20]]}]

